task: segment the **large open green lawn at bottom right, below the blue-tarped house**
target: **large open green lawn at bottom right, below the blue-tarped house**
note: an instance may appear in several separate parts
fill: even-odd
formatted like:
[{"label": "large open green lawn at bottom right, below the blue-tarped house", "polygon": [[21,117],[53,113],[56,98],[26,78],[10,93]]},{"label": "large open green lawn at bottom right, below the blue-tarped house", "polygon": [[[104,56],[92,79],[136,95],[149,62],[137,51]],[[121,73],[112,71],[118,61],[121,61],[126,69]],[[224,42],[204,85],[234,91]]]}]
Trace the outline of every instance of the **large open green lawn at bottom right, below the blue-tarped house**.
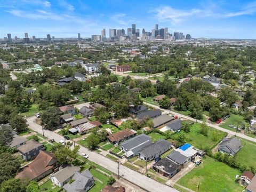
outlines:
[{"label": "large open green lawn at bottom right, below the blue-tarped house", "polygon": [[200,182],[201,192],[242,191],[243,187],[236,183],[236,175],[240,174],[240,171],[207,156],[203,164],[187,173],[178,184],[197,191]]}]

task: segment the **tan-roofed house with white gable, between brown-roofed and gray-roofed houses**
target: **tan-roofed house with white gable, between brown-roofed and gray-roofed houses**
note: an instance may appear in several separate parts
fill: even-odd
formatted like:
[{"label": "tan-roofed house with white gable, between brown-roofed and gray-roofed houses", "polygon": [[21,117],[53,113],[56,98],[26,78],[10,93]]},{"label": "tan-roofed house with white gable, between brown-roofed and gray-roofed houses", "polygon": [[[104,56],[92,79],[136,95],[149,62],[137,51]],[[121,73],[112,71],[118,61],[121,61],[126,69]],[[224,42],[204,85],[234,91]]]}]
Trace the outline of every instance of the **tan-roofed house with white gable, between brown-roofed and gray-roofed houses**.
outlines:
[{"label": "tan-roofed house with white gable, between brown-roofed and gray-roofed houses", "polygon": [[79,171],[80,167],[68,165],[52,175],[52,183],[54,186],[63,187],[70,179],[73,178],[74,174]]}]

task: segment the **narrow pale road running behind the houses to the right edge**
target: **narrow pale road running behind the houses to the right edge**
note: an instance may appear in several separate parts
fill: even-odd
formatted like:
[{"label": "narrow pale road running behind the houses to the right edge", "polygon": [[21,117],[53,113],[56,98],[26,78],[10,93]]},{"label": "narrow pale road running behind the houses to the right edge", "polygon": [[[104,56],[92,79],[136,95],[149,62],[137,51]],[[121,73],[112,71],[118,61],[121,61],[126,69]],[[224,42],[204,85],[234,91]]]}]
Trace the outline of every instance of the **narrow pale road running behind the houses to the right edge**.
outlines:
[{"label": "narrow pale road running behind the houses to the right edge", "polygon": [[[170,113],[170,110],[160,108],[159,106],[152,105],[152,104],[150,104],[150,103],[146,103],[146,102],[143,102],[143,103],[145,103],[145,104],[147,104],[148,106],[153,107],[153,108],[155,108],[155,109],[164,110],[164,112],[165,112],[166,114],[169,114],[169,113]],[[174,112],[174,111],[171,111],[171,114],[173,114],[173,115],[175,115],[175,116],[178,116],[178,117],[185,118],[185,119],[189,119],[189,120],[194,121],[194,122],[205,123],[205,122],[203,122],[203,121],[197,120],[197,119],[195,119],[195,118],[192,118],[192,117],[189,117],[189,116],[186,116],[186,115],[182,115],[182,114],[176,113],[176,112]],[[249,141],[252,141],[252,142],[256,142],[256,139],[255,139],[255,138],[251,138],[251,137],[249,137],[249,136],[247,136],[247,135],[245,135],[245,134],[242,134],[242,133],[239,133],[239,132],[236,133],[236,132],[234,132],[234,131],[230,131],[230,130],[224,129],[224,128],[218,126],[218,125],[213,125],[213,124],[210,124],[210,123],[206,123],[206,124],[207,124],[208,126],[214,128],[214,129],[217,129],[217,130],[220,130],[220,131],[223,131],[223,132],[227,132],[227,133],[230,134],[230,135],[235,135],[235,134],[236,134],[237,137],[241,137],[241,138],[243,138],[243,139],[246,139],[246,140],[249,140]]]}]

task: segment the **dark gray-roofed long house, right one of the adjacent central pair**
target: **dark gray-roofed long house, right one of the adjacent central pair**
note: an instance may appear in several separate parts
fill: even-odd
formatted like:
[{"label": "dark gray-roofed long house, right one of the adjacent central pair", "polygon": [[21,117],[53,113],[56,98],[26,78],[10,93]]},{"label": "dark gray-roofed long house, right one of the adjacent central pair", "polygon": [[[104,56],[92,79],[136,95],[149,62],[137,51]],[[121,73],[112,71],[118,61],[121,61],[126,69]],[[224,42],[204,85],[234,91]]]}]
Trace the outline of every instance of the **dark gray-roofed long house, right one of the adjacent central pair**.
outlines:
[{"label": "dark gray-roofed long house, right one of the adjacent central pair", "polygon": [[172,148],[172,143],[164,139],[160,139],[154,143],[151,143],[146,147],[143,147],[137,153],[139,158],[148,162],[157,157],[160,157],[163,153],[165,153],[167,150],[171,148]]}]

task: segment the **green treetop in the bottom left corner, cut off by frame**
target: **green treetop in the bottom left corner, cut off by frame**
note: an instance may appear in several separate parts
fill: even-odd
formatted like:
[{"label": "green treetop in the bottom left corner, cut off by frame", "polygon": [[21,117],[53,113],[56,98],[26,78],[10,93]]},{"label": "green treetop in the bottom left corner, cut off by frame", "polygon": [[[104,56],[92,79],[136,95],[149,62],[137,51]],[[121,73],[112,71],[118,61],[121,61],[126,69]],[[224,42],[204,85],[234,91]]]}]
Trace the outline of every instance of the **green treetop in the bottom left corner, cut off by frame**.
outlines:
[{"label": "green treetop in the bottom left corner, cut off by frame", "polygon": [[26,184],[20,179],[9,179],[1,184],[0,192],[26,192]]}]

